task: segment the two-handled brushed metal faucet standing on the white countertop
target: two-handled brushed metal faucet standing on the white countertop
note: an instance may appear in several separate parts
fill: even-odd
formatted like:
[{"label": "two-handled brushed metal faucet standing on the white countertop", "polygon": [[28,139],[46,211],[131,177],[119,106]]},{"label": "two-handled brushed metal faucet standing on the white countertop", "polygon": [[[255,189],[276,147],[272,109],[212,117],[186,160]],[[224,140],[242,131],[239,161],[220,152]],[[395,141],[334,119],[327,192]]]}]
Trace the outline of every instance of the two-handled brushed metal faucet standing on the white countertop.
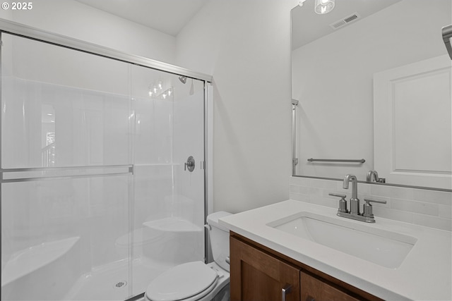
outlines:
[{"label": "two-handled brushed metal faucet standing on the white countertop", "polygon": [[[378,176],[377,176],[378,177]],[[350,211],[347,210],[346,195],[339,195],[336,193],[329,193],[335,197],[340,197],[338,216],[346,217],[347,219],[356,219],[357,221],[365,221],[366,223],[375,223],[374,214],[372,212],[371,202],[386,204],[386,201],[378,201],[375,199],[364,199],[363,213],[359,213],[359,199],[358,199],[358,180],[356,176],[348,174],[344,178],[343,188],[348,189],[348,183],[352,182],[352,197],[350,198]]]}]

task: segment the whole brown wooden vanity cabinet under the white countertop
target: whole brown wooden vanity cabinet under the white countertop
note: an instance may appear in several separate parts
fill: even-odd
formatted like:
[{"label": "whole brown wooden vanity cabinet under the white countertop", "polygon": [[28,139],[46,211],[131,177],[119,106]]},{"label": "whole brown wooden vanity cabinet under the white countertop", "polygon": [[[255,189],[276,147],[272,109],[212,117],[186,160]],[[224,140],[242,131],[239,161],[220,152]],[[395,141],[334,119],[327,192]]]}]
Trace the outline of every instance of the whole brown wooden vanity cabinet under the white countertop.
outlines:
[{"label": "whole brown wooden vanity cabinet under the white countertop", "polygon": [[231,301],[381,300],[234,232],[230,273]]}]

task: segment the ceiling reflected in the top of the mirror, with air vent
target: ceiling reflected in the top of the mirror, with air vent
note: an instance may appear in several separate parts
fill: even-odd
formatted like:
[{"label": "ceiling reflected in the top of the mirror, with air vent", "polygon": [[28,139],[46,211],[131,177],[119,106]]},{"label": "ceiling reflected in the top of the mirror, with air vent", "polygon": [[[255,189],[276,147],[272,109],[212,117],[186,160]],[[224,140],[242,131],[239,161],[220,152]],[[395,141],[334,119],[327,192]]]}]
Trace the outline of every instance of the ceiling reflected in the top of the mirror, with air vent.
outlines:
[{"label": "ceiling reflected in the top of the mirror, with air vent", "polygon": [[[303,6],[292,9],[292,50],[335,32],[330,24],[353,13],[366,18],[398,1],[400,0],[336,0],[333,11],[318,15],[314,12],[314,0],[307,0]],[[359,19],[355,22],[359,22]]]}]

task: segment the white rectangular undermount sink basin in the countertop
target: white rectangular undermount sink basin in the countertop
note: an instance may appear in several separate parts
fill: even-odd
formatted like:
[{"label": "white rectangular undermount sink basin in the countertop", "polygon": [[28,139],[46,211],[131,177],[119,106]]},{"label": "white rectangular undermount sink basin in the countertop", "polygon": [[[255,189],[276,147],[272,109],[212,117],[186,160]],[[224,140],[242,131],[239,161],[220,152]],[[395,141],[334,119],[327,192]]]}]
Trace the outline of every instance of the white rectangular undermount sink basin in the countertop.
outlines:
[{"label": "white rectangular undermount sink basin in the countertop", "polygon": [[397,269],[417,241],[409,235],[359,223],[302,211],[267,226],[389,269]]}]

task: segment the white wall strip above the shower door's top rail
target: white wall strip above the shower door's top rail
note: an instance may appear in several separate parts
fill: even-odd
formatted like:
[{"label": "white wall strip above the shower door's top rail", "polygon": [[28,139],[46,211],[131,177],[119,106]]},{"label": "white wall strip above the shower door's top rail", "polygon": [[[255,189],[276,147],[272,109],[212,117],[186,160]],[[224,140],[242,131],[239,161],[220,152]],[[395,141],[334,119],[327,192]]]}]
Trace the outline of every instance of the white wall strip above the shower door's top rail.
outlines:
[{"label": "white wall strip above the shower door's top rail", "polygon": [[73,0],[32,1],[30,11],[0,10],[0,18],[165,63],[176,38]]}]

